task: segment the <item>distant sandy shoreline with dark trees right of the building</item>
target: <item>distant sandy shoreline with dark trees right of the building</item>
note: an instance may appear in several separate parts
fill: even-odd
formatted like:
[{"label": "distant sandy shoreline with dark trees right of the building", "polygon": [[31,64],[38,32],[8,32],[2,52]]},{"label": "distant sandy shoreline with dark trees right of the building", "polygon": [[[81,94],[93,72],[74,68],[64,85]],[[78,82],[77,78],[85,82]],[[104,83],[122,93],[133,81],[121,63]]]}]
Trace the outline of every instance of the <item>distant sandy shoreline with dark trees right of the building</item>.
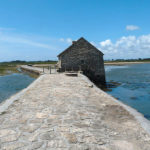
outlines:
[{"label": "distant sandy shoreline with dark trees right of the building", "polygon": [[104,62],[104,65],[133,65],[133,64],[145,64],[145,63],[150,63],[150,61],[141,61],[141,62]]}]

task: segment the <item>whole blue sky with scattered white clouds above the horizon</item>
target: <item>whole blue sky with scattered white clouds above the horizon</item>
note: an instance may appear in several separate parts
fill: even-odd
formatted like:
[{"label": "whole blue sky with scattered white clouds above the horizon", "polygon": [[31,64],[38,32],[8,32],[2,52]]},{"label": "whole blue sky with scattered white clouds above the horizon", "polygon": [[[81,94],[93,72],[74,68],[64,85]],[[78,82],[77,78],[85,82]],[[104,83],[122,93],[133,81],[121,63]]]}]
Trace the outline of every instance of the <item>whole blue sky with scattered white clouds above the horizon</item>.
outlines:
[{"label": "whole blue sky with scattered white clouds above the horizon", "polygon": [[150,57],[150,0],[1,0],[0,61],[57,60],[84,37],[104,59]]}]

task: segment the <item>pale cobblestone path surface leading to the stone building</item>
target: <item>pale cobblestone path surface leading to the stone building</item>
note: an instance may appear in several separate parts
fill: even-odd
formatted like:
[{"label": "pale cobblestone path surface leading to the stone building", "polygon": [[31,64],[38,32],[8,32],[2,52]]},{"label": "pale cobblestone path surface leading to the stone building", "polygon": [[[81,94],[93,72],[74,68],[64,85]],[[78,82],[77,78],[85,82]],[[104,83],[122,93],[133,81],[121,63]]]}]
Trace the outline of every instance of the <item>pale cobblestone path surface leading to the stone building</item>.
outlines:
[{"label": "pale cobblestone path surface leading to the stone building", "polygon": [[1,150],[150,150],[150,136],[83,78],[45,74],[0,115]]}]

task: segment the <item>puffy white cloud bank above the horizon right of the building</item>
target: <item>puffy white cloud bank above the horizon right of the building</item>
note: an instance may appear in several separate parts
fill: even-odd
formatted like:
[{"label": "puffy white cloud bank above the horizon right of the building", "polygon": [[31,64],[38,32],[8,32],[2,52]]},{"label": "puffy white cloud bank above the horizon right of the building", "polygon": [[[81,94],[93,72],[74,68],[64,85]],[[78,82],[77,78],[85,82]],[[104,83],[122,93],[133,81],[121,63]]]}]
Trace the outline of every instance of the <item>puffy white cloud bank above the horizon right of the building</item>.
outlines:
[{"label": "puffy white cloud bank above the horizon right of the building", "polygon": [[106,59],[150,58],[150,34],[123,36],[115,43],[108,39],[99,43],[99,49]]}]

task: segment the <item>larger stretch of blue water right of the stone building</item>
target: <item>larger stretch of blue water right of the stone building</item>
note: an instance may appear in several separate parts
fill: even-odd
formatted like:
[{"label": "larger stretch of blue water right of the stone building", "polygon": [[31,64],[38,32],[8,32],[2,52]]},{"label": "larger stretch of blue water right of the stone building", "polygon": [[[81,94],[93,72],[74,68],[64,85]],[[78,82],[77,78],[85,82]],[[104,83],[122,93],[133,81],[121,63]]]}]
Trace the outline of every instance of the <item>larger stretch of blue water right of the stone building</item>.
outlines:
[{"label": "larger stretch of blue water right of the stone building", "polygon": [[150,120],[150,64],[105,66],[107,82],[120,83],[107,93]]}]

